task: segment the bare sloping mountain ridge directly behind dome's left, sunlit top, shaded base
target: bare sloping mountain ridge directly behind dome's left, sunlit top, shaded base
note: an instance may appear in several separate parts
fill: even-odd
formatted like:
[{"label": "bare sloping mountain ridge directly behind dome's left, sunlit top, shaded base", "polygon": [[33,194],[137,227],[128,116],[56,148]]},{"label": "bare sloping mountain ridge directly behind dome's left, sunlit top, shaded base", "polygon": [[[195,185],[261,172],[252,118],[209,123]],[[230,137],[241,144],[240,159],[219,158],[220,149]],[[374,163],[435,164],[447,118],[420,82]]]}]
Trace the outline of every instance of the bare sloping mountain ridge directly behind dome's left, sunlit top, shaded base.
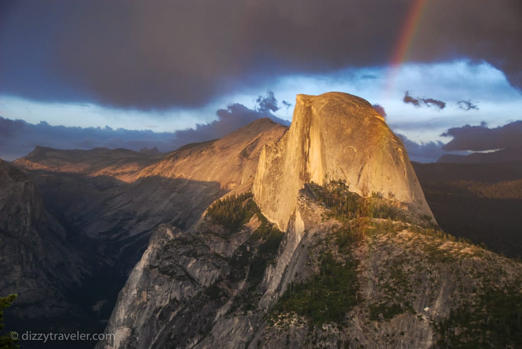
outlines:
[{"label": "bare sloping mountain ridge directly behind dome's left, sunlit top, shaded base", "polygon": [[[261,149],[286,130],[263,118],[221,139],[186,145],[145,167],[131,185],[111,191],[103,212],[85,229],[120,226],[119,233],[129,236],[158,223],[188,229],[216,199],[252,188]],[[128,213],[126,221],[115,222]]]}]

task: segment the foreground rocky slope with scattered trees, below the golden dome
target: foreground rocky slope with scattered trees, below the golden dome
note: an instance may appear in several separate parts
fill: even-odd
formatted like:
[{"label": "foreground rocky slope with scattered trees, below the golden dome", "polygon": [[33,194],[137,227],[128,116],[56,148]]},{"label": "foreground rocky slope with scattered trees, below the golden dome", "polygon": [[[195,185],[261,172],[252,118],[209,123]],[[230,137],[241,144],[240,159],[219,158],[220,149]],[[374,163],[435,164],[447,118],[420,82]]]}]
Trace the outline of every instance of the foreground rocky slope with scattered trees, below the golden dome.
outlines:
[{"label": "foreground rocky slope with scattered trees, below the golden dome", "polygon": [[[470,333],[493,343],[455,314],[484,319],[493,294],[502,299],[493,306],[506,311],[513,300],[503,290],[520,292],[522,266],[514,260],[410,223],[328,219],[305,190],[297,207],[302,223],[292,219],[257,277],[255,218],[233,234],[208,216],[191,232],[160,226],[118,297],[106,329],[114,341],[98,347],[430,348],[468,341]],[[300,224],[304,230],[295,230]],[[335,288],[343,270],[355,275],[348,293]],[[337,275],[333,284],[328,271]],[[337,320],[320,306],[349,302]]]}]

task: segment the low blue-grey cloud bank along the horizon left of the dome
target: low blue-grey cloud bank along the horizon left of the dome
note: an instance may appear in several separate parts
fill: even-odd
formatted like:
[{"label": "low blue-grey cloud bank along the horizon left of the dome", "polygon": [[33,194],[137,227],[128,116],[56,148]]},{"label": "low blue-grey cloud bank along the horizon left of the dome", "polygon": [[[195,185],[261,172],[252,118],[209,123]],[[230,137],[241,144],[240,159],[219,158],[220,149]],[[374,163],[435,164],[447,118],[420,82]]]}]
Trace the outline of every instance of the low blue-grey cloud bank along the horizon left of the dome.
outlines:
[{"label": "low blue-grey cloud bank along the horizon left of the dome", "polygon": [[34,125],[23,120],[11,120],[0,116],[0,157],[5,160],[15,160],[27,155],[36,146],[58,149],[126,148],[135,151],[157,147],[160,151],[167,152],[187,143],[221,138],[263,117],[269,117],[283,125],[290,125],[288,121],[271,113],[279,109],[274,93],[268,91],[266,97],[259,96],[256,102],[254,109],[239,103],[231,104],[227,109],[216,112],[218,116],[216,121],[174,133],[112,129],[107,126],[104,128],[51,126],[44,121]]}]

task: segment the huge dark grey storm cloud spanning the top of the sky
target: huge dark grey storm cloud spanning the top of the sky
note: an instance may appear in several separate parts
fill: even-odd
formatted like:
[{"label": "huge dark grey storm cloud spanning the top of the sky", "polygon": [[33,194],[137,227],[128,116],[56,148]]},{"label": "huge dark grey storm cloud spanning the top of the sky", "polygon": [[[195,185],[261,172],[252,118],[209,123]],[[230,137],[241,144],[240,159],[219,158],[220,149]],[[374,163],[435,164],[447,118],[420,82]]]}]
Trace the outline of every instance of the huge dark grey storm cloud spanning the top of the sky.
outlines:
[{"label": "huge dark grey storm cloud spanning the top of the sky", "polygon": [[[0,93],[167,109],[281,74],[386,65],[411,3],[3,1]],[[522,87],[521,4],[426,2],[410,61],[485,60]]]}]

